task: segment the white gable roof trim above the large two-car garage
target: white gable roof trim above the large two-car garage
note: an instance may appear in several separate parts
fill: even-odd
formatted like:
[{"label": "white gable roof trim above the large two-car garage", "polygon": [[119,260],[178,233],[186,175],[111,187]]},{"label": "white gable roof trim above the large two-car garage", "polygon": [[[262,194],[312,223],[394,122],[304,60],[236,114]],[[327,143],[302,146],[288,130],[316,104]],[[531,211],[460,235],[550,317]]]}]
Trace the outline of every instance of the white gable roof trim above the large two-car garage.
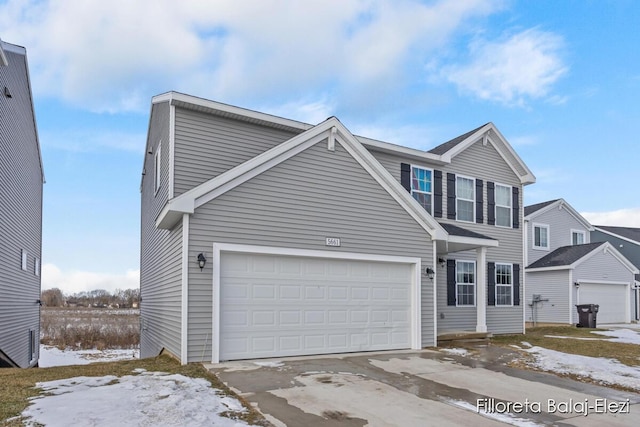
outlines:
[{"label": "white gable roof trim above the large two-car garage", "polygon": [[335,143],[342,145],[434,240],[447,239],[444,228],[335,117],[169,200],[160,212],[156,226],[172,228],[183,214],[194,213],[199,206],[324,140],[328,140],[329,146]]}]

